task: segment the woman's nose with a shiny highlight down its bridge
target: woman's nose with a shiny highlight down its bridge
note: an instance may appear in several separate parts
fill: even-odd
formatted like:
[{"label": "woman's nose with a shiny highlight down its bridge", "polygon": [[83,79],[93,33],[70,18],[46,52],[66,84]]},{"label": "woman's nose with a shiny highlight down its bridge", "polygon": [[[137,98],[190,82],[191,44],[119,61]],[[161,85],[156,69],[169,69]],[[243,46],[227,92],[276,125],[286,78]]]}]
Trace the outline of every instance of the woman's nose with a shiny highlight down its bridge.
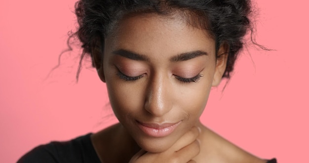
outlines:
[{"label": "woman's nose with a shiny highlight down its bridge", "polygon": [[154,117],[162,117],[172,109],[172,90],[168,80],[156,78],[150,80],[147,87],[145,110]]}]

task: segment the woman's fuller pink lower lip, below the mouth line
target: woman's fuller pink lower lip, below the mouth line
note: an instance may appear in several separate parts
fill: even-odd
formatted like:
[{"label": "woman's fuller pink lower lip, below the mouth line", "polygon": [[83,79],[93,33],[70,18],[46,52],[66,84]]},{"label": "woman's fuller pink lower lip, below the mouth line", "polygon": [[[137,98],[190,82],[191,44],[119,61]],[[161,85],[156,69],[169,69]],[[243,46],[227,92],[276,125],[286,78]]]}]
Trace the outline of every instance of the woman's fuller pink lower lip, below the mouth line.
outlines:
[{"label": "woman's fuller pink lower lip, below the mouth line", "polygon": [[177,122],[165,128],[153,128],[153,127],[143,125],[140,122],[137,122],[137,125],[143,132],[145,132],[149,136],[164,137],[164,136],[171,134],[180,122]]}]

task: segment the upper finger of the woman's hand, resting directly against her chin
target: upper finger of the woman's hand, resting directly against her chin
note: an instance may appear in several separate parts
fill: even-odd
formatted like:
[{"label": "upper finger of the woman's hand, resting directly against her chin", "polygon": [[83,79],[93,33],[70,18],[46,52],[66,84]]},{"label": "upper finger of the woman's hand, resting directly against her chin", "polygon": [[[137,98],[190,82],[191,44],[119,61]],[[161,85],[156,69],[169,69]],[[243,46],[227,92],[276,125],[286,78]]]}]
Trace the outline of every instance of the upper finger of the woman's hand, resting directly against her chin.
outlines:
[{"label": "upper finger of the woman's hand, resting directly against her chin", "polygon": [[192,127],[191,130],[186,132],[183,136],[181,136],[176,143],[171,147],[174,151],[179,151],[180,149],[188,146],[193,143],[200,133],[200,129],[196,126]]}]

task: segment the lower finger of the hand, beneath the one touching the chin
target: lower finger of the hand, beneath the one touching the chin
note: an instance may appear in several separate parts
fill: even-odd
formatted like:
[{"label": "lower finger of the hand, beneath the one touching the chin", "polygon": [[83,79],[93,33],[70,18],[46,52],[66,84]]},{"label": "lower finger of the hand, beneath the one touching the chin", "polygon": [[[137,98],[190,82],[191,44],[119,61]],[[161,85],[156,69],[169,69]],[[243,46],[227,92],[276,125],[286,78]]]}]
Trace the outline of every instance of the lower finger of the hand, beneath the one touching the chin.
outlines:
[{"label": "lower finger of the hand, beneath the one touching the chin", "polygon": [[[182,148],[178,152],[176,152],[176,157],[185,163],[191,163],[192,159],[197,156],[200,152],[200,144],[198,140],[195,140],[190,145]],[[194,163],[194,162],[193,162]]]}]

